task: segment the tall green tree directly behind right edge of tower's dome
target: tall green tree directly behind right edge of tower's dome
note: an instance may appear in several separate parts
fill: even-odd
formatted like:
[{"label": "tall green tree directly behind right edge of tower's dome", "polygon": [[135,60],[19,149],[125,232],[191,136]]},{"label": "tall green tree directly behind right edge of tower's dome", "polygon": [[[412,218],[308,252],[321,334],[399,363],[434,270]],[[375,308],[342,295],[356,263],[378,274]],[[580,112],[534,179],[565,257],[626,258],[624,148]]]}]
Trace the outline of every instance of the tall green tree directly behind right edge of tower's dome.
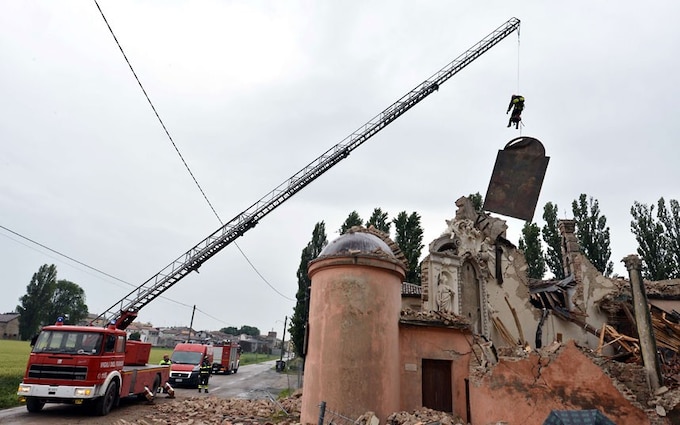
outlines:
[{"label": "tall green tree directly behind right edge of tower's dome", "polygon": [[411,215],[402,211],[393,220],[394,242],[406,257],[406,282],[420,285],[420,253],[423,250],[423,228],[420,216],[415,211]]}]

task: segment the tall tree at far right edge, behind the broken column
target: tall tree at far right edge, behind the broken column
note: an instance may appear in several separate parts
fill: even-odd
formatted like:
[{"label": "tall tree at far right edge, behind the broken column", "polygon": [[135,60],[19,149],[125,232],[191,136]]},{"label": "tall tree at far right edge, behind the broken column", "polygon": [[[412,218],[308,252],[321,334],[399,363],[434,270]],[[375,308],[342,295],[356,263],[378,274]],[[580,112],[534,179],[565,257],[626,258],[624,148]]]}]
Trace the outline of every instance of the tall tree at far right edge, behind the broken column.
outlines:
[{"label": "tall tree at far right edge, behind the broken column", "polygon": [[630,209],[633,216],[630,228],[638,243],[637,252],[642,258],[642,275],[649,280],[678,278],[678,201],[671,200],[670,212],[663,198],[659,199],[657,205],[659,210],[656,217],[653,204],[636,201]]}]

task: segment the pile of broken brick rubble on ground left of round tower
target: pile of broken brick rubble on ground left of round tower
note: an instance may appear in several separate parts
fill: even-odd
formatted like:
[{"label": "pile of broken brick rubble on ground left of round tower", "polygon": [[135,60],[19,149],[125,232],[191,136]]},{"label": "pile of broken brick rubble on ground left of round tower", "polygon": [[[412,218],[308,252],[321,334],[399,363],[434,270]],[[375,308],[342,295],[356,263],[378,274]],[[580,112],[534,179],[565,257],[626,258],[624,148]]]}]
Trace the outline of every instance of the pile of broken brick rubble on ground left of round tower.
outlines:
[{"label": "pile of broken brick rubble on ground left of round tower", "polygon": [[[278,424],[300,422],[302,392],[277,400],[221,399],[216,397],[190,397],[157,404],[150,413],[135,421],[119,420],[115,425],[128,424]],[[280,405],[280,407],[279,407]],[[288,414],[281,410],[283,408]]]}]

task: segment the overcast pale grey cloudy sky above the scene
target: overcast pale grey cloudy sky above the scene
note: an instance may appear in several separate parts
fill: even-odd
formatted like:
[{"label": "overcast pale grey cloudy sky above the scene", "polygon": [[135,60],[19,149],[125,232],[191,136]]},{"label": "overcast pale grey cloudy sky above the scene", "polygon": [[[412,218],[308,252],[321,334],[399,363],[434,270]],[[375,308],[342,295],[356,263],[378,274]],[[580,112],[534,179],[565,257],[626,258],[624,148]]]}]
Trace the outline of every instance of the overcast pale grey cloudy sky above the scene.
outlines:
[{"label": "overcast pale grey cloudy sky above the scene", "polygon": [[[418,212],[425,245],[486,193],[510,95],[550,156],[543,205],[599,200],[615,272],[634,201],[680,198],[680,3],[99,0],[228,221],[512,17],[512,34],[146,306],[156,326],[282,331],[300,252],[356,210]],[[0,310],[56,264],[103,312],[220,223],[93,1],[0,3]],[[522,222],[508,219],[514,242]],[[9,229],[9,230],[8,230]],[[39,242],[82,264],[17,236]],[[425,255],[426,250],[423,251]],[[249,264],[252,263],[257,270]],[[260,277],[261,274],[263,278]]]}]

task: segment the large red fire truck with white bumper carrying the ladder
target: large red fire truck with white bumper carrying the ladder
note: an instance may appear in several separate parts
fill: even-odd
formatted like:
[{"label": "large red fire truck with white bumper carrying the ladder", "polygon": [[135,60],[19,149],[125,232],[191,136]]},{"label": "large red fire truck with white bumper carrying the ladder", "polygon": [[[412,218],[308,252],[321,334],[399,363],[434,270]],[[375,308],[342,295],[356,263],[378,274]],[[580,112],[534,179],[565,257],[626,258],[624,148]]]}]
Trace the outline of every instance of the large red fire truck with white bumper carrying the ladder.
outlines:
[{"label": "large red fire truck with white bumper carrying the ladder", "polygon": [[[153,401],[170,367],[147,365],[151,344],[130,341],[115,323],[107,327],[45,326],[33,345],[19,399],[29,412],[45,403],[89,406],[106,415],[123,397]],[[168,385],[168,394],[173,390]]]}]

